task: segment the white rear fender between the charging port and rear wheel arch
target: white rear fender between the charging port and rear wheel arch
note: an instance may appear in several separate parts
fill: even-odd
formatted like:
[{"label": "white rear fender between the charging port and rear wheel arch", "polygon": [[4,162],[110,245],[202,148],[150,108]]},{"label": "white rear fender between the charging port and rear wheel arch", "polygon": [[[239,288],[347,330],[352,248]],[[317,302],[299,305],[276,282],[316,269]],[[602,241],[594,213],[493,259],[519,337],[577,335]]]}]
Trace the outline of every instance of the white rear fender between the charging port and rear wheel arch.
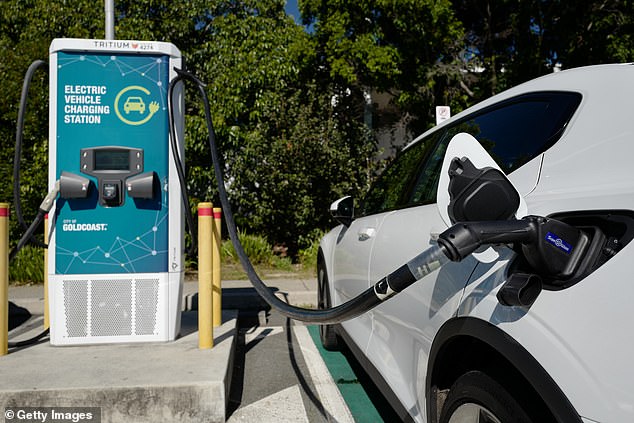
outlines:
[{"label": "white rear fender between the charging port and rear wheel arch", "polygon": [[[625,248],[631,253],[634,245]],[[622,253],[573,287],[542,292],[529,312],[501,306],[492,295],[504,282],[503,265],[480,264],[489,271],[478,276],[483,272],[478,269],[458,314],[492,322],[521,343],[580,415],[600,422],[632,421],[634,285],[631,258]],[[492,294],[483,296],[489,289]]]}]

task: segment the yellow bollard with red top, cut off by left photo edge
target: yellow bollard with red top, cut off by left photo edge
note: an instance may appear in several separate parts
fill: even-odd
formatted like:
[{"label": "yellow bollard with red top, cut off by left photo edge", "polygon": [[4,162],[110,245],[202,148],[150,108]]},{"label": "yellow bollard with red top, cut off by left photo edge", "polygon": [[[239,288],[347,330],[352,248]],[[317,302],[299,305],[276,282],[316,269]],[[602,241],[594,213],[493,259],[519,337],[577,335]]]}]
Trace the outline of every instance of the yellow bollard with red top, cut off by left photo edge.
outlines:
[{"label": "yellow bollard with red top, cut off by left photo edge", "polygon": [[0,356],[9,353],[9,205],[0,203]]}]

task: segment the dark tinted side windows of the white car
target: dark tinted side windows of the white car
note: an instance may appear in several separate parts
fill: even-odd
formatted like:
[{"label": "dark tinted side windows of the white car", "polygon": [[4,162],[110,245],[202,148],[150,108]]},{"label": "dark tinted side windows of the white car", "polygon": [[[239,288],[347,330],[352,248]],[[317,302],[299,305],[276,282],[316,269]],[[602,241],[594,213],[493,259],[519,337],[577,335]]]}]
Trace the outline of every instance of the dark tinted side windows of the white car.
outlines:
[{"label": "dark tinted side windows of the white car", "polygon": [[581,101],[571,92],[536,92],[505,100],[433,132],[407,148],[376,180],[363,215],[436,202],[447,144],[467,132],[511,173],[552,146]]}]

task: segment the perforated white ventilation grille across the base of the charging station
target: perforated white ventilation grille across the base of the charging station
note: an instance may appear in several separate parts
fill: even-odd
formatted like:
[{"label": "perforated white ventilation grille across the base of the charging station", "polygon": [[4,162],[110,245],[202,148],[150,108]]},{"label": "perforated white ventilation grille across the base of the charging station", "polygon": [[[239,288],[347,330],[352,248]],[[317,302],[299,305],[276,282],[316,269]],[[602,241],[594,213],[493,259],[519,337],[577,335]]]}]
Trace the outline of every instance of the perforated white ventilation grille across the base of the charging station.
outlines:
[{"label": "perforated white ventilation grille across the base of the charging station", "polygon": [[63,280],[70,338],[156,335],[158,279]]}]

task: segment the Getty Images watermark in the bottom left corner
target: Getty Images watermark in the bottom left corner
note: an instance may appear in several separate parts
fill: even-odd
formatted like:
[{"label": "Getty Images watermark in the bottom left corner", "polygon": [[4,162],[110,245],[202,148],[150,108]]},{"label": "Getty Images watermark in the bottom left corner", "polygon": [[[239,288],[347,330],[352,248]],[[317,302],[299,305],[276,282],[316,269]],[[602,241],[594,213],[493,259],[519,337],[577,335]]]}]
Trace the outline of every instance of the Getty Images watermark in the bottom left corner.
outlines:
[{"label": "Getty Images watermark in the bottom left corner", "polygon": [[101,423],[100,407],[7,407],[5,423]]}]

